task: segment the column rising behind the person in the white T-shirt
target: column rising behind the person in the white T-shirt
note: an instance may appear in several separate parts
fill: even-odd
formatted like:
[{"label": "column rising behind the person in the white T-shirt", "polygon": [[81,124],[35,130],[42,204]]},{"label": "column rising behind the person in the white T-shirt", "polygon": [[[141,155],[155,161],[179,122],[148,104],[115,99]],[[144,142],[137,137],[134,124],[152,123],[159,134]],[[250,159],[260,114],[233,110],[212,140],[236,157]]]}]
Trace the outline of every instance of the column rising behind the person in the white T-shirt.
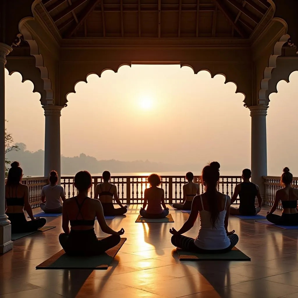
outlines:
[{"label": "column rising behind the person in the white T-shirt", "polygon": [[45,140],[44,140],[44,176],[48,177],[52,170],[57,171],[60,184],[61,153],[60,153],[60,116],[59,105],[44,105]]}]

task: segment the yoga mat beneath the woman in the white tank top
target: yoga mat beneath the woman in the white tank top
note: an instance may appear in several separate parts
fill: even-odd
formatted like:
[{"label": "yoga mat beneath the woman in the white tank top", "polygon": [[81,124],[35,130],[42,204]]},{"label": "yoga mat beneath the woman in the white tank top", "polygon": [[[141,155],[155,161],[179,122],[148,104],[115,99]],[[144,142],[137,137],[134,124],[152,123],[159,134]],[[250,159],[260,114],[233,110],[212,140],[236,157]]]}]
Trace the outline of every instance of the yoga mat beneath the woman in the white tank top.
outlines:
[{"label": "yoga mat beneath the woman in the white tank top", "polygon": [[180,261],[250,261],[250,257],[233,247],[230,252],[223,254],[197,254],[177,248]]}]

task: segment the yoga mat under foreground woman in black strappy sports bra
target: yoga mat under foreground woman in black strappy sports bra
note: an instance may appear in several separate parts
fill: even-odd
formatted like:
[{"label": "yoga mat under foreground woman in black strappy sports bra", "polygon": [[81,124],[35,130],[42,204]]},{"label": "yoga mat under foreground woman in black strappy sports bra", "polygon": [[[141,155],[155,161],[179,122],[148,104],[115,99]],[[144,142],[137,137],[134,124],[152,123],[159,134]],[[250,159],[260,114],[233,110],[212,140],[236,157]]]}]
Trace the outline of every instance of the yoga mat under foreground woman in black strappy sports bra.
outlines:
[{"label": "yoga mat under foreground woman in black strappy sports bra", "polygon": [[108,269],[125,241],[126,238],[121,238],[118,245],[107,250],[104,254],[91,257],[71,257],[61,249],[60,252],[36,266],[36,269]]}]

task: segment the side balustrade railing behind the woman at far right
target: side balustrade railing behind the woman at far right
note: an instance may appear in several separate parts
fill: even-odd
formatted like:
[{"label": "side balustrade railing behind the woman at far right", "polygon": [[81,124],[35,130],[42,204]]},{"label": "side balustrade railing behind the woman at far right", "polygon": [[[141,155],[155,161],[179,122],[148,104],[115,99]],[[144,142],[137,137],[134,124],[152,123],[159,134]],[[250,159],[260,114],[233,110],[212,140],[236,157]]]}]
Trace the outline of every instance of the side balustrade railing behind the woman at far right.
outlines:
[{"label": "side balustrade railing behind the woman at far right", "polygon": [[[273,202],[274,202],[275,192],[278,189],[282,188],[282,186],[280,184],[280,177],[277,177],[277,176],[263,176],[263,179],[264,179],[264,185],[265,185],[264,203],[267,206],[272,207]],[[298,178],[297,177],[293,178],[292,186],[295,187],[295,188],[298,188]],[[280,203],[278,204],[277,209],[283,210],[283,207]]]}]

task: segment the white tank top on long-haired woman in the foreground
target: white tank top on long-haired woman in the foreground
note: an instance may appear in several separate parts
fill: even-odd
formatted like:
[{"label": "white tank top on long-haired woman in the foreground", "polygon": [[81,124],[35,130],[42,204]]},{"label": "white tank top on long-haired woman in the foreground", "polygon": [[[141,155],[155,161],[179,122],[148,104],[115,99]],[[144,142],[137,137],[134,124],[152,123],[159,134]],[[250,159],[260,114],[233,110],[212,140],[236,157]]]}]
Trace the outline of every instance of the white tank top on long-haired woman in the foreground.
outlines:
[{"label": "white tank top on long-haired woman in the foreground", "polygon": [[202,211],[199,211],[201,227],[199,230],[198,237],[195,239],[195,245],[198,246],[198,248],[208,250],[225,249],[229,247],[231,245],[231,242],[228,236],[226,235],[226,229],[224,227],[224,219],[226,217],[227,195],[224,210],[219,212],[219,218],[218,221],[215,223],[214,228],[212,226],[212,222],[210,221],[211,214],[209,211],[204,210],[201,195],[200,198],[202,204]]}]

